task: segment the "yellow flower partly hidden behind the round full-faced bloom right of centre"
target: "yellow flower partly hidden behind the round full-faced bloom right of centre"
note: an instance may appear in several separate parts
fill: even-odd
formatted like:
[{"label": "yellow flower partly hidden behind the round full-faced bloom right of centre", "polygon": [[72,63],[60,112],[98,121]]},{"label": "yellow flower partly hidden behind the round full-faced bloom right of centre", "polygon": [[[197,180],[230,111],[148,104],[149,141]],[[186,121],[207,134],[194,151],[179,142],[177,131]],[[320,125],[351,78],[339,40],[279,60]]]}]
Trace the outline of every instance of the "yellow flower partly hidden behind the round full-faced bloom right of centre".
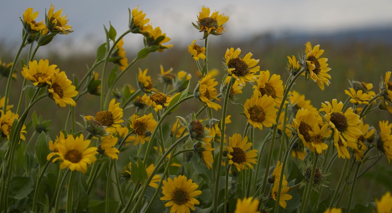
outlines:
[{"label": "yellow flower partly hidden behind the round full-faced bloom right of centre", "polygon": [[260,71],[260,78],[257,81],[257,86],[253,86],[253,89],[259,92],[259,96],[263,95],[271,96],[274,98],[276,106],[280,106],[283,100],[283,81],[280,80],[280,75],[272,75],[270,78],[270,72]]}]

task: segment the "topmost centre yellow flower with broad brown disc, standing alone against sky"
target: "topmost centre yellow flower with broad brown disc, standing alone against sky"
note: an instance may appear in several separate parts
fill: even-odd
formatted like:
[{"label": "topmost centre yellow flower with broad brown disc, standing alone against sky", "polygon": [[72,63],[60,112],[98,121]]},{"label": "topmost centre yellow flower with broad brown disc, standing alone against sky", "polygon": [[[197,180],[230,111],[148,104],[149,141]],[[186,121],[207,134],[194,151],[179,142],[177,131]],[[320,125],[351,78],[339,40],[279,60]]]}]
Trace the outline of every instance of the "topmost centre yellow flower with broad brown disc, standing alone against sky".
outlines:
[{"label": "topmost centre yellow flower with broad brown disc, standing alone against sky", "polygon": [[197,21],[200,32],[203,31],[207,35],[210,33],[220,35],[225,31],[223,24],[229,20],[229,16],[225,16],[225,14],[218,15],[218,13],[219,11],[215,11],[210,16],[210,8],[203,5]]}]

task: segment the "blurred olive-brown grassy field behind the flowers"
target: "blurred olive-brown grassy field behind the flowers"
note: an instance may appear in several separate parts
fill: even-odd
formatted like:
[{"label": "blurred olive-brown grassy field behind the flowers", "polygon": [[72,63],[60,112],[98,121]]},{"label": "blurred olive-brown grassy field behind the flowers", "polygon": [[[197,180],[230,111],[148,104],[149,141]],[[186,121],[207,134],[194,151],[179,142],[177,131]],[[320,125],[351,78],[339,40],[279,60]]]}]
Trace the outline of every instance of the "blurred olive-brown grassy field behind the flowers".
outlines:
[{"label": "blurred olive-brown grassy field behind the flowers", "polygon": [[[219,43],[216,42],[219,38],[214,37],[209,41],[209,69],[217,68],[220,70],[220,75],[216,77],[216,80],[220,81],[225,71],[221,68],[221,62],[223,61],[223,57],[225,55],[225,51],[227,48],[240,47],[242,50],[242,55],[251,52],[253,54],[252,58],[260,59],[260,69],[261,70],[269,70],[271,73],[276,73],[282,75],[283,78],[287,79],[288,73],[285,69],[287,64],[287,57],[295,55],[298,58],[298,53],[303,53],[305,48],[304,40],[302,44],[291,44],[290,40],[279,40],[273,43],[265,43],[262,48],[258,47],[252,42],[236,42],[235,46],[232,46],[234,43]],[[380,82],[380,77],[385,75],[386,71],[392,71],[392,52],[390,49],[392,48],[391,44],[382,44],[382,43],[365,43],[365,42],[351,42],[347,41],[346,43],[337,43],[332,40],[318,40],[317,38],[311,40],[312,45],[320,44],[320,49],[324,49],[325,52],[323,57],[328,58],[329,67],[332,70],[329,74],[332,76],[331,85],[329,87],[325,87],[324,91],[321,91],[317,84],[313,84],[309,82],[308,84],[305,82],[303,78],[300,78],[297,81],[297,84],[294,86],[294,89],[301,94],[305,94],[307,99],[312,101],[312,104],[320,108],[321,102],[331,101],[333,98],[337,98],[338,101],[344,101],[347,96],[344,94],[344,90],[349,87],[348,80],[357,80],[363,81],[367,83],[372,83],[374,86],[373,91],[378,92],[378,84]],[[198,41],[198,44],[201,44],[201,41]],[[97,45],[98,47],[98,45]],[[25,48],[27,49],[27,48]],[[0,47],[0,57],[2,61],[12,62],[13,55],[8,55],[7,53],[14,52],[15,50],[3,49]],[[21,58],[25,60],[27,58],[27,53],[24,50],[22,52]],[[131,61],[136,53],[136,49],[126,49],[127,58]],[[42,47],[38,50],[38,55],[35,57],[36,60],[40,58],[49,59],[50,64],[56,64],[60,68],[60,71],[65,71],[69,78],[72,78],[72,74],[76,74],[78,79],[80,80],[84,73],[87,71],[86,64],[91,66],[94,62],[95,53],[91,53],[91,55],[74,55],[69,57],[63,57],[60,53],[61,51],[45,53],[45,48]],[[191,91],[197,84],[198,77],[196,75],[197,66],[194,62],[194,59],[190,57],[186,46],[178,46],[175,45],[173,49],[165,50],[164,53],[152,53],[146,59],[142,59],[134,66],[129,69],[128,73],[126,73],[123,78],[116,84],[119,89],[122,88],[124,84],[131,84],[134,89],[137,89],[136,86],[136,75],[138,73],[138,67],[141,69],[149,69],[149,75],[152,76],[154,85],[159,89],[163,88],[163,84],[158,83],[158,75],[160,73],[160,64],[163,65],[165,71],[173,67],[174,72],[178,72],[180,70],[187,71],[192,74],[191,80]],[[108,65],[108,69],[111,69],[112,64]],[[17,82],[12,82],[11,94],[10,94],[10,103],[14,104],[14,109],[18,104],[18,100],[20,97],[21,86],[23,82],[23,77],[20,74],[20,66],[18,64],[16,70],[18,71],[18,80]],[[96,71],[102,73],[102,66],[98,66]],[[4,96],[5,91],[6,78],[3,78],[0,82],[0,95]],[[219,90],[219,85],[216,87]],[[106,88],[107,89],[107,88]],[[241,99],[238,103],[243,104],[246,98],[250,98],[252,94],[252,87],[246,86],[243,89],[243,94],[238,95]],[[85,95],[81,98],[76,107],[75,115],[76,121],[82,122],[79,115],[95,115],[97,111],[100,109],[100,98],[99,96],[93,95]],[[198,111],[201,107],[201,103],[196,100],[190,100],[187,103],[181,105],[181,110],[178,110],[175,115],[186,117],[192,111]],[[242,112],[242,108],[240,105],[230,105],[228,109],[228,114],[232,115],[232,123],[227,124],[227,136],[231,136],[233,133],[241,133],[243,134],[243,129],[246,124],[246,119],[238,113]],[[55,138],[58,135],[58,132],[64,128],[65,124],[65,116],[68,113],[69,107],[58,108],[53,101],[51,100],[43,100],[33,108],[33,111],[37,112],[37,115],[42,115],[44,119],[51,119],[53,130],[50,132],[51,138]],[[127,109],[124,111],[124,119],[129,118],[134,113],[131,109]],[[221,111],[215,112],[213,111],[214,117],[220,118]],[[205,113],[202,114],[205,116]],[[379,120],[392,120],[392,115],[388,111],[377,111],[370,116],[367,116],[367,123],[375,126],[378,129],[378,121]],[[165,124],[172,124],[174,122],[174,116],[169,118],[169,122]],[[78,126],[77,129],[80,129]],[[28,132],[27,138],[31,135],[30,130]],[[263,131],[266,132],[266,131]],[[255,146],[257,147],[257,142],[261,142],[265,134],[261,131],[255,131]],[[276,146],[276,149],[278,149]],[[268,145],[265,149],[268,149]],[[264,150],[265,151],[265,150]],[[264,152],[264,158],[267,156],[267,151]],[[273,161],[275,162],[275,161]],[[272,163],[274,164],[274,163]],[[336,164],[336,165],[335,165]],[[332,167],[333,175],[329,177],[334,177],[334,179],[328,178],[328,180],[332,183],[331,186],[334,188],[336,183],[338,182],[338,178],[341,172],[341,167],[343,164],[342,159],[337,159]],[[370,163],[368,163],[370,164]],[[367,165],[364,165],[362,169],[366,168]],[[121,168],[122,164],[119,164]],[[261,167],[264,167],[265,160],[262,160]],[[357,183],[356,193],[358,196],[355,197],[354,202],[369,202],[374,200],[374,198],[380,198],[385,191],[392,190],[392,184],[390,183],[390,177],[392,174],[392,169],[388,168],[387,159],[384,157],[380,160],[380,162],[374,166],[369,172],[363,177],[360,178]],[[300,180],[299,180],[300,181]],[[327,190],[324,190],[326,193]],[[324,194],[323,194],[324,196]],[[327,195],[325,195],[327,196]],[[344,204],[346,199],[348,199],[348,193],[343,195],[342,204]],[[323,200],[323,198],[321,198]]]}]

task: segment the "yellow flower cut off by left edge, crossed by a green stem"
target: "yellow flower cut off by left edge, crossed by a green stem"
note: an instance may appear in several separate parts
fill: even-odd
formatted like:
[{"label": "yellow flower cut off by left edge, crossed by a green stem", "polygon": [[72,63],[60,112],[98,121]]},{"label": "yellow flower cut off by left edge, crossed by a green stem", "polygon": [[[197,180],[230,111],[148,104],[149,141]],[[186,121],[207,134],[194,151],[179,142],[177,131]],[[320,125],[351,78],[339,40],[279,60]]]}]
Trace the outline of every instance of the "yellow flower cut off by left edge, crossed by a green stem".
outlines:
[{"label": "yellow flower cut off by left edge, crossed by a green stem", "polygon": [[[14,124],[14,119],[18,119],[18,114],[14,114],[11,110],[8,110],[5,114],[2,109],[0,109],[1,117],[0,117],[0,141],[4,140],[3,138],[7,137],[9,140],[9,134],[11,133],[12,125]],[[26,140],[24,134],[27,133],[25,131],[26,126],[22,126],[22,130],[20,131],[20,139]]]}]

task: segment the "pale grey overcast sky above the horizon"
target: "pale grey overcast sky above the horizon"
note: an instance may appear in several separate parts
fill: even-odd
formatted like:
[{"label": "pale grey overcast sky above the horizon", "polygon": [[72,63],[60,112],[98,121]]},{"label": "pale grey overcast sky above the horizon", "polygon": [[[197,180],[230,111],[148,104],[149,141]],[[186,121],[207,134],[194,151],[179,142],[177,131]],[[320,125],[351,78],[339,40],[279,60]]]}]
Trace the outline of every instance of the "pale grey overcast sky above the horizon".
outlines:
[{"label": "pale grey overcast sky above the horizon", "polygon": [[[261,33],[333,33],[341,30],[363,29],[366,27],[392,27],[391,0],[297,0],[297,1],[185,1],[185,0],[1,0],[0,2],[0,41],[5,44],[19,45],[23,16],[27,7],[38,11],[37,20],[44,20],[45,8],[52,3],[55,11],[63,8],[68,15],[68,24],[74,33],[56,36],[56,42],[66,42],[84,51],[96,49],[97,44],[105,41],[103,24],[112,25],[119,34],[128,27],[128,7],[136,7],[146,13],[153,27],[160,26],[172,43],[190,44],[201,38],[191,24],[197,19],[201,7],[210,7],[211,12],[218,10],[230,16],[225,24],[225,40],[235,40]],[[61,38],[60,38],[61,37]],[[125,46],[141,46],[141,35],[124,38]],[[4,43],[3,43],[4,44]],[[91,49],[92,48],[92,49]]]}]

